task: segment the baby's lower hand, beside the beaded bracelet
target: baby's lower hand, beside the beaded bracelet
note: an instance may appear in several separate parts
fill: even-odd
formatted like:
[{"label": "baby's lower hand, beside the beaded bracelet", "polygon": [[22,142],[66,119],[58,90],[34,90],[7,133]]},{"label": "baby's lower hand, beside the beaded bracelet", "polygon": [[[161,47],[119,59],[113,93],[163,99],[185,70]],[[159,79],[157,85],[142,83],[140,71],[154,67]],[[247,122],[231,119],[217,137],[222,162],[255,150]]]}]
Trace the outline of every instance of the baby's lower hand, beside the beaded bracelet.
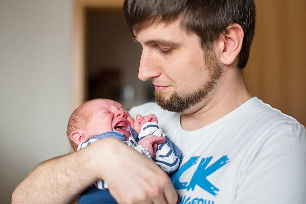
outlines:
[{"label": "baby's lower hand, beside the beaded bracelet", "polygon": [[147,135],[139,141],[139,145],[143,146],[148,150],[151,158],[154,157],[157,146],[165,142],[165,137],[158,137],[156,135]]}]

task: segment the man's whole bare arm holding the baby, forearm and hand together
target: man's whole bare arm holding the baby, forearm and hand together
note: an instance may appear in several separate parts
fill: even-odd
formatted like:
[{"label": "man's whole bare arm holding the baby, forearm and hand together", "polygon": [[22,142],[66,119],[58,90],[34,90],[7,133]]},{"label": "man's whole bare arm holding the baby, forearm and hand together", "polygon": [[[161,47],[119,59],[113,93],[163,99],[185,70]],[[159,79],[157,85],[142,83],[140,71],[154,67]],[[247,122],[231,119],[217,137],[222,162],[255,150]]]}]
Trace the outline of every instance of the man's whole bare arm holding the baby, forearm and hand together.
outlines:
[{"label": "man's whole bare arm holding the baby, forearm and hand together", "polygon": [[154,162],[119,140],[106,138],[40,163],[17,186],[12,203],[71,203],[98,179],[108,184],[118,203],[177,200],[171,180]]}]

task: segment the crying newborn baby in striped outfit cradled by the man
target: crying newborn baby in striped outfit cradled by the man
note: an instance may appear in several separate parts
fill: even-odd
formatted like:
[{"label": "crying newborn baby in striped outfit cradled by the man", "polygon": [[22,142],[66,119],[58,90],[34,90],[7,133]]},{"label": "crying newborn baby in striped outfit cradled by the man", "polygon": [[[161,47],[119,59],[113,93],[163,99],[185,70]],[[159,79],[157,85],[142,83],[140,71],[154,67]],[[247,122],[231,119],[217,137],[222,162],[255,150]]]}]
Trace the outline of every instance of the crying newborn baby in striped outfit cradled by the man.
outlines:
[{"label": "crying newborn baby in striped outfit cradled by the man", "polygon": [[[167,173],[176,170],[181,159],[180,150],[159,128],[154,114],[137,115],[134,121],[119,102],[109,99],[93,99],[77,108],[69,119],[67,135],[74,150],[114,137],[153,158]],[[96,181],[95,186],[108,189],[102,180]]]}]

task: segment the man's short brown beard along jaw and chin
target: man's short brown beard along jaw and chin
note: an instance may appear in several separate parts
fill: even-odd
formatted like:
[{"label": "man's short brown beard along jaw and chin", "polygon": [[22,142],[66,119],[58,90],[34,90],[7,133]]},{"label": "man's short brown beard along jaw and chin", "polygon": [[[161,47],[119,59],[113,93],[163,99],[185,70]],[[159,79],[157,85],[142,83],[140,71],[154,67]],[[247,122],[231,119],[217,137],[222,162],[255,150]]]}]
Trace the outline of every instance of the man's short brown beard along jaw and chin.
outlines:
[{"label": "man's short brown beard along jaw and chin", "polygon": [[[215,54],[212,51],[206,53],[207,59],[205,64],[208,70],[208,81],[204,82],[202,87],[185,95],[178,95],[176,91],[171,94],[170,98],[166,99],[159,91],[154,91],[155,102],[162,108],[168,111],[183,113],[189,108],[196,106],[215,88],[218,79],[222,73],[222,67],[218,65]],[[192,79],[190,79],[192,80]]]}]

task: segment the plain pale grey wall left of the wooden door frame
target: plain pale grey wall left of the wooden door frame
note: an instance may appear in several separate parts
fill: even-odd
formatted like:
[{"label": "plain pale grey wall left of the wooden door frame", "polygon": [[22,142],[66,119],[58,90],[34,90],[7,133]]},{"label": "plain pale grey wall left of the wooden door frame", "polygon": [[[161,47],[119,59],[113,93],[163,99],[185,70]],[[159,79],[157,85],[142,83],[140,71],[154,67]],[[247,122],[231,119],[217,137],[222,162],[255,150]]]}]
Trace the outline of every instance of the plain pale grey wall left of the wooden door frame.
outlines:
[{"label": "plain pale grey wall left of the wooden door frame", "polygon": [[[0,1],[0,203],[68,153],[73,0]],[[47,184],[47,181],[46,181]]]}]

